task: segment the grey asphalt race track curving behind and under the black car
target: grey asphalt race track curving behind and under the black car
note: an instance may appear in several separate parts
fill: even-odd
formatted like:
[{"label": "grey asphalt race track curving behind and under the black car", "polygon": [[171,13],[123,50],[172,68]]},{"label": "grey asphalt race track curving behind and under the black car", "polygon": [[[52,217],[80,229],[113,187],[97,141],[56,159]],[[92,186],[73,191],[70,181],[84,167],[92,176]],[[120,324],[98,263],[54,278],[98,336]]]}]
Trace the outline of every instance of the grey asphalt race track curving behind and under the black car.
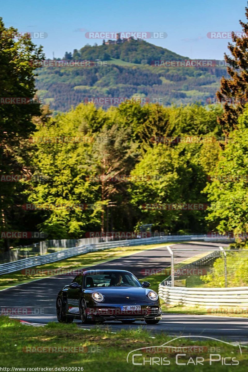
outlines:
[{"label": "grey asphalt race track curving behind and under the black car", "polygon": [[[200,249],[218,247],[218,243],[199,243],[191,242],[175,244],[176,249]],[[228,244],[221,244],[227,246]],[[200,252],[180,252],[175,254],[175,263],[194,256]],[[91,266],[90,269],[122,269],[133,272],[138,279],[144,276],[144,269],[163,269],[170,266],[170,255],[165,248],[159,247],[146,250],[131,256],[126,256],[109,263]],[[30,283],[25,283],[16,287],[0,291],[1,308],[28,308],[28,315],[12,316],[23,321],[32,322],[34,325],[44,325],[50,321],[57,321],[55,301],[59,290],[66,284],[71,283],[73,276],[54,276],[39,279]],[[161,276],[161,280],[164,276]],[[35,314],[33,314],[35,312]],[[30,314],[32,313],[32,314]],[[76,321],[81,328],[90,329],[96,327],[94,324],[83,325],[81,321]],[[242,344],[248,343],[248,319],[234,317],[218,317],[211,315],[185,315],[185,314],[163,314],[162,320],[156,325],[147,325],[144,322],[135,322],[132,325],[123,325],[119,322],[107,322],[97,325],[106,328],[106,325],[113,332],[121,328],[136,328],[144,325],[145,328],[154,332],[164,332],[169,335],[185,336],[208,336],[218,339],[238,341]]]}]

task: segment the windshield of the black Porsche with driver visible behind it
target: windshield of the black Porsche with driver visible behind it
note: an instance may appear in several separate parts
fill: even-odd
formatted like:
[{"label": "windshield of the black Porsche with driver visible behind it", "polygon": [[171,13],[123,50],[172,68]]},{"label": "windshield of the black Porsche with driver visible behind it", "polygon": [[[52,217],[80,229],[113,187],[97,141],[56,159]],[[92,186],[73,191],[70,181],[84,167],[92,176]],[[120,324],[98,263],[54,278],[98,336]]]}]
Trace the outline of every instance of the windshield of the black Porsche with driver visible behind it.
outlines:
[{"label": "windshield of the black Porsche with driver visible behind it", "polygon": [[95,275],[84,275],[83,288],[94,287],[142,287],[138,279],[131,273],[126,272],[104,272]]}]

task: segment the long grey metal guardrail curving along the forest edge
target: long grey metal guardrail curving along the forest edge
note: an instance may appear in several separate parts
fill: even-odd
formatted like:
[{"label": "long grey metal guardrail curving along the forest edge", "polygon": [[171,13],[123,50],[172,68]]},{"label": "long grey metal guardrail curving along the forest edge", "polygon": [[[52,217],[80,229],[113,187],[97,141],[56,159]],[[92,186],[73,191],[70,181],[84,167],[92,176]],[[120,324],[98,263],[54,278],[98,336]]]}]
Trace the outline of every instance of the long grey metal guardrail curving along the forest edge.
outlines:
[{"label": "long grey metal guardrail curving along the forest edge", "polygon": [[[111,241],[108,243],[97,243],[89,244],[85,246],[68,248],[63,251],[44,254],[42,256],[29,257],[22,260],[17,260],[14,262],[3,263],[0,265],[0,275],[12,273],[18,270],[27,269],[28,267],[38,266],[45,263],[56,262],[59,260],[66,259],[68,257],[78,256],[79,254],[84,254],[93,251],[100,251],[108,248],[115,247],[126,247],[126,246],[140,246],[147,244],[160,244],[173,241],[191,241],[191,240],[203,240],[209,241],[207,235],[168,235],[152,238],[142,238],[142,239],[132,239],[132,240],[122,240],[122,241]],[[221,239],[226,241],[226,238]],[[213,239],[212,239],[213,241]],[[229,240],[230,242],[233,240]]]}]

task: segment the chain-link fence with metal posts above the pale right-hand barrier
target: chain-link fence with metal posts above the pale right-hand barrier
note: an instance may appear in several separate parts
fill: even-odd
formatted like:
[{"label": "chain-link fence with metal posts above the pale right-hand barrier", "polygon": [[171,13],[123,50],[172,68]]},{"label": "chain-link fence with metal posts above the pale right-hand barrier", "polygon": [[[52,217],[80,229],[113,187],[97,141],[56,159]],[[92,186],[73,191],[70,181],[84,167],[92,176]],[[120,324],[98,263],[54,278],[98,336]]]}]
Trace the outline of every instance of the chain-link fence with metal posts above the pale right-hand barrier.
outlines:
[{"label": "chain-link fence with metal posts above the pale right-hand barrier", "polygon": [[167,286],[221,288],[248,286],[248,249],[171,249]]}]

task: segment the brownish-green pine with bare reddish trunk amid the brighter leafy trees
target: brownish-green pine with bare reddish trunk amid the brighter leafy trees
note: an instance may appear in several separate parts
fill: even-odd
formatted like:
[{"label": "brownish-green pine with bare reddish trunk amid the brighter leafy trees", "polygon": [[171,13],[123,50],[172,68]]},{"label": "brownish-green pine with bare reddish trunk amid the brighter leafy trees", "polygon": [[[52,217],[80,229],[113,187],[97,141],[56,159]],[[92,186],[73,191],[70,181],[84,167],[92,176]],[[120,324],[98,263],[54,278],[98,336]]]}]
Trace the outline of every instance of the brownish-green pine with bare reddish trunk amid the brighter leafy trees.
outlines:
[{"label": "brownish-green pine with bare reddish trunk amid the brighter leafy trees", "polygon": [[95,174],[99,180],[97,182],[102,202],[101,230],[106,228],[106,231],[109,231],[109,208],[116,206],[119,211],[120,208],[125,209],[125,176],[129,175],[138,157],[138,144],[131,140],[130,128],[120,128],[117,124],[110,128],[105,125],[98,138],[100,143],[93,144],[90,168],[91,174]]}]

